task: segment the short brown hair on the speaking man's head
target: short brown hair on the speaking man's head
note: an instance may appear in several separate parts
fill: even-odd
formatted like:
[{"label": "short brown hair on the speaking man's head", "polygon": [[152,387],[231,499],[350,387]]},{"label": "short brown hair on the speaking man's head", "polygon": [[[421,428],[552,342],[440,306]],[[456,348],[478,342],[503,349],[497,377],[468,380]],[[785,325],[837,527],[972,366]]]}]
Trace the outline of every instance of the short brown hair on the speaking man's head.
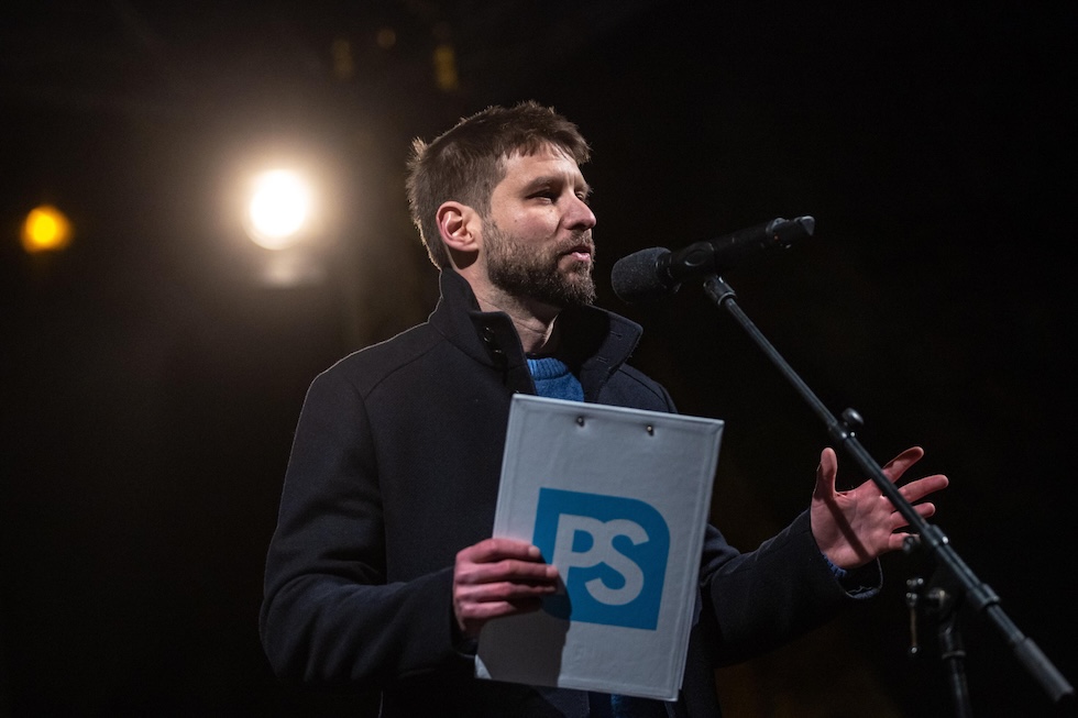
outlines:
[{"label": "short brown hair on the speaking man's head", "polygon": [[449,265],[436,218],[442,202],[463,202],[485,217],[491,210],[491,195],[505,177],[505,161],[515,152],[532,154],[548,144],[563,150],[578,165],[591,157],[591,148],[575,124],[553,108],[531,100],[512,108],[488,107],[462,118],[429,144],[413,141],[408,207],[436,267]]}]

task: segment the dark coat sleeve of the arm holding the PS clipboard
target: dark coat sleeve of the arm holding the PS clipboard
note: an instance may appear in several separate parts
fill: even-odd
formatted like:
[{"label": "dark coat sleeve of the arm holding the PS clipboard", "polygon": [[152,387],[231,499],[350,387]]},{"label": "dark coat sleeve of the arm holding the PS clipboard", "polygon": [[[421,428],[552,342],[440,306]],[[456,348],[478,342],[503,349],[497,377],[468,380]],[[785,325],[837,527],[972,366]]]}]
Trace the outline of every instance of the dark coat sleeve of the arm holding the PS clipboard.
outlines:
[{"label": "dark coat sleeve of the arm holding the PS clipboard", "polygon": [[283,680],[375,687],[471,671],[454,642],[452,567],[386,584],[374,456],[362,397],[321,374],[300,412],[266,557],[260,631]]}]

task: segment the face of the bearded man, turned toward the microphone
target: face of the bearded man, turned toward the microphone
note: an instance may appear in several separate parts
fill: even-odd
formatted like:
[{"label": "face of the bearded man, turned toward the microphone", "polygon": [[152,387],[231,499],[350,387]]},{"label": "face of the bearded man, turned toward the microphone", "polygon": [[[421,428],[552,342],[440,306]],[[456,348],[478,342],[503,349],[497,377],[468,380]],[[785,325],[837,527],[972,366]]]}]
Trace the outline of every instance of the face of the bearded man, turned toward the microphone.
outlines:
[{"label": "face of the bearded man, turned toward the microphone", "polygon": [[491,284],[557,309],[595,301],[587,191],[576,163],[557,148],[506,159],[483,225]]}]

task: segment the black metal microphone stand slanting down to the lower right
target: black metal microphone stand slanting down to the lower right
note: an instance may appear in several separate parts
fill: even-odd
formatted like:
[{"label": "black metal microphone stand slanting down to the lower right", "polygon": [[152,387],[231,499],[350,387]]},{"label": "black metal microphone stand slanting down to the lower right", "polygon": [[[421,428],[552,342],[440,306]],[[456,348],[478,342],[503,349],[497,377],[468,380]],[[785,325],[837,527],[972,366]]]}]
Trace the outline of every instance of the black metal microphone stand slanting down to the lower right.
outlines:
[{"label": "black metal microphone stand slanting down to the lower right", "polygon": [[[854,435],[856,429],[864,424],[860,415],[854,409],[846,409],[842,419],[837,419],[824,404],[813,394],[812,389],[798,376],[790,365],[782,358],[779,352],[771,345],[767,338],[752,323],[751,320],[741,311],[735,301],[736,295],[726,281],[716,275],[708,276],[704,281],[704,290],[716,306],[725,308],[730,316],[748,333],[749,338],[767,354],[768,358],[779,368],[785,378],[793,384],[802,398],[824,421],[827,433],[832,439],[842,444],[847,453],[854,459],[858,467],[879,486],[884,496],[890,499],[891,505],[905,518],[910,524],[912,534],[906,540],[905,551],[912,551],[920,546],[928,552],[934,559],[936,574],[933,578],[934,586],[927,593],[921,594],[919,590],[911,590],[906,594],[908,605],[911,610],[917,606],[927,605],[933,616],[939,617],[938,639],[942,659],[948,669],[949,683],[953,693],[955,711],[959,718],[970,716],[969,697],[966,688],[966,676],[963,661],[965,650],[961,643],[961,636],[955,622],[955,611],[957,607],[968,603],[972,608],[983,614],[989,622],[1003,637],[1004,642],[1010,647],[1018,661],[1036,680],[1041,687],[1048,695],[1053,704],[1059,705],[1065,699],[1074,699],[1074,687],[1067,682],[1062,673],[1044,655],[1041,649],[1030,638],[1023,636],[1013,621],[1000,607],[999,596],[996,595],[988,585],[981,582],[966,563],[958,556],[947,537],[937,527],[932,526],[914,510],[913,506],[899,491],[883,474],[883,470],[872,459],[872,456],[861,446]],[[916,581],[917,588],[923,585]],[[915,639],[914,639],[915,640]],[[916,645],[911,650],[916,652]]]}]

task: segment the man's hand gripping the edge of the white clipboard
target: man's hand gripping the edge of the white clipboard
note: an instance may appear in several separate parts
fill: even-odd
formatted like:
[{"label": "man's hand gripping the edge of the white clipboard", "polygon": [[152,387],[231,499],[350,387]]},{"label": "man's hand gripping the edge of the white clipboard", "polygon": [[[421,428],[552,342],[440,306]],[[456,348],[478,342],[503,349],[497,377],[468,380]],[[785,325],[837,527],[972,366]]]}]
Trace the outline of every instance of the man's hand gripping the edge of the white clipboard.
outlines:
[{"label": "man's hand gripping the edge of the white clipboard", "polygon": [[515,539],[485,539],[457,554],[453,614],[468,638],[492,618],[538,610],[558,590],[558,570],[539,549]]}]

